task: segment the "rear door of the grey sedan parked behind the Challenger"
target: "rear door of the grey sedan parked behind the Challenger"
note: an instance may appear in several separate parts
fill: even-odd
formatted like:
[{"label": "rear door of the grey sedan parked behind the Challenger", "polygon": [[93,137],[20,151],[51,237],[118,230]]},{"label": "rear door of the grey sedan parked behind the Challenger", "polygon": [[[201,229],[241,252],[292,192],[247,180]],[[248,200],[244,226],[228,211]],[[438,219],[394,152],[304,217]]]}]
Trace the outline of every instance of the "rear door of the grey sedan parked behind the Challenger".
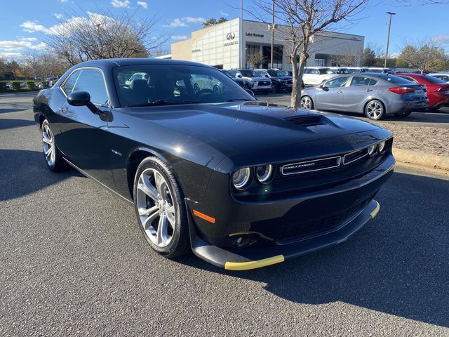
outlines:
[{"label": "rear door of the grey sedan parked behind the Challenger", "polygon": [[365,76],[353,76],[349,86],[344,88],[342,110],[360,112],[366,97],[373,93],[373,86],[376,84],[376,79]]}]

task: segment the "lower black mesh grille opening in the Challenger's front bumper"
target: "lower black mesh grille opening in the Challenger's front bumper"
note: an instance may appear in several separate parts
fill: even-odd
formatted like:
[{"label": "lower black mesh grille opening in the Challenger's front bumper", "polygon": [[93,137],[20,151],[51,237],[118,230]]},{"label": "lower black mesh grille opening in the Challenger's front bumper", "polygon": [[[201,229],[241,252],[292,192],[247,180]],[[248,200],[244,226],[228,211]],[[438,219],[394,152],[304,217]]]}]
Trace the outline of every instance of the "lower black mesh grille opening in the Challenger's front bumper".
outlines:
[{"label": "lower black mesh grille opening in the Challenger's front bumper", "polygon": [[305,220],[303,222],[284,223],[276,229],[274,241],[276,244],[288,244],[290,242],[300,241],[308,237],[316,237],[337,230],[349,219],[356,216],[370,201],[372,197],[356,204],[349,209],[335,213],[332,216]]}]

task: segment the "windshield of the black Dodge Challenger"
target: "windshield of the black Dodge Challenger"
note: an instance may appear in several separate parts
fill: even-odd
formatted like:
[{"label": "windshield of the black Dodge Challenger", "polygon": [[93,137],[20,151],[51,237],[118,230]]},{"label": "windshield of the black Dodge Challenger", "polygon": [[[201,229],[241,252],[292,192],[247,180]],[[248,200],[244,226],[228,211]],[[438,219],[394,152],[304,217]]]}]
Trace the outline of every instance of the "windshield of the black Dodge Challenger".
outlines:
[{"label": "windshield of the black Dodge Challenger", "polygon": [[112,72],[122,107],[255,100],[227,75],[210,67],[128,65]]}]

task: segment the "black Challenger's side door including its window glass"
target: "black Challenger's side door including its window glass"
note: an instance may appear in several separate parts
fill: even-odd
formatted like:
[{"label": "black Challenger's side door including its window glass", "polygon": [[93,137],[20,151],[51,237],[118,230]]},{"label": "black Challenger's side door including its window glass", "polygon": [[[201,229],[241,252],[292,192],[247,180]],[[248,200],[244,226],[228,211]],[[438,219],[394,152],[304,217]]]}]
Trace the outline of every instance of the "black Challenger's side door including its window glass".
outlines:
[{"label": "black Challenger's side door including its window glass", "polygon": [[107,132],[109,96],[102,71],[91,67],[76,70],[61,88],[66,95],[87,91],[98,109],[94,113],[86,106],[76,107],[67,102],[62,106],[59,112],[62,152],[89,176],[108,187],[114,187]]}]

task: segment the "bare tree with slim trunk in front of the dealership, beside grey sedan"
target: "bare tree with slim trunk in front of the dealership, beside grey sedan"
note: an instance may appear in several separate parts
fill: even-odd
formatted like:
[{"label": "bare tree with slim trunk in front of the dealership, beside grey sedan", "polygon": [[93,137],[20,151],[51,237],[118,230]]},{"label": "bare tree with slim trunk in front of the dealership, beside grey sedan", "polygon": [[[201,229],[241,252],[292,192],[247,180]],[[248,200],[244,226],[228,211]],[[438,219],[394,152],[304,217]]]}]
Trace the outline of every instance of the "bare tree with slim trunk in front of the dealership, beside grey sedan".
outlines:
[{"label": "bare tree with slim trunk in front of the dealership, beside grey sedan", "polygon": [[[274,0],[276,22],[286,25],[279,29],[286,41],[284,48],[293,70],[291,105],[300,106],[302,72],[309,58],[314,37],[324,29],[330,29],[341,20],[349,20],[368,4],[369,0]],[[272,0],[257,2],[267,14],[272,13]]]}]

